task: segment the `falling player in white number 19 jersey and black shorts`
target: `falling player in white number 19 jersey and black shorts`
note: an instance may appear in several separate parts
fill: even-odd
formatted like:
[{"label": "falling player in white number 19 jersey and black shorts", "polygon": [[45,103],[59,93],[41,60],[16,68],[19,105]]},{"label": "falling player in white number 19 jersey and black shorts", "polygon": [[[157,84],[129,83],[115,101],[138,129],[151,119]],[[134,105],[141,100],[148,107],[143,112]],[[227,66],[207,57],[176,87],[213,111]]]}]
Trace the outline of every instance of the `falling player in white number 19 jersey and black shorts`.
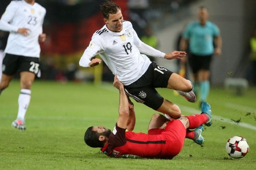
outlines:
[{"label": "falling player in white number 19 jersey and black shorts", "polygon": [[165,54],[144,44],[132,28],[131,22],[123,19],[120,7],[113,1],[101,4],[100,10],[105,25],[93,34],[89,46],[79,61],[80,66],[93,67],[100,64],[99,58],[90,61],[99,54],[112,73],[124,84],[128,96],[166,114],[167,117],[169,115],[174,119],[180,118],[180,108],[163,99],[155,88],[177,90],[188,101],[195,102],[193,84],[180,75],[151,62],[146,55],[167,60],[174,58],[182,60],[186,52],[173,51]]}]

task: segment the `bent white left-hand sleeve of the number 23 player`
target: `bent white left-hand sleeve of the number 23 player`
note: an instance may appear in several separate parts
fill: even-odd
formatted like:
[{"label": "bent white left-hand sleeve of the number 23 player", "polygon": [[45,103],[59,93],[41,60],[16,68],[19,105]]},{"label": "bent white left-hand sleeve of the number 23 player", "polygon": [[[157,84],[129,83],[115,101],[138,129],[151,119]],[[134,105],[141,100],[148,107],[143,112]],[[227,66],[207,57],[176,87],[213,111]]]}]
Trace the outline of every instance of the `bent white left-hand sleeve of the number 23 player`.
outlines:
[{"label": "bent white left-hand sleeve of the number 23 player", "polygon": [[11,2],[7,7],[2,15],[2,18],[0,19],[0,30],[3,31],[9,31],[9,32],[17,32],[18,27],[13,26],[9,24],[10,21],[12,21],[15,13],[17,11],[17,6],[14,4],[14,2]]}]

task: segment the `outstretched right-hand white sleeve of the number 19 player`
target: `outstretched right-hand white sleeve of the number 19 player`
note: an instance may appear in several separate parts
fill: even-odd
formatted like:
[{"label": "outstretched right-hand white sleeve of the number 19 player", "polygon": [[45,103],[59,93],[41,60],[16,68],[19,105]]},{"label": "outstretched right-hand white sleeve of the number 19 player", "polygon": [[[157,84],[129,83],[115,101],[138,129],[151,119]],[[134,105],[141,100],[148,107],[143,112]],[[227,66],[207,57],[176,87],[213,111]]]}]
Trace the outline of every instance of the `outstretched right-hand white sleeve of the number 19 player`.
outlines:
[{"label": "outstretched right-hand white sleeve of the number 19 player", "polygon": [[165,53],[159,50],[156,50],[153,47],[143,43],[134,30],[133,30],[133,40],[134,40],[134,45],[139,49],[141,53],[150,55],[153,57],[160,57],[160,58],[165,57]]}]

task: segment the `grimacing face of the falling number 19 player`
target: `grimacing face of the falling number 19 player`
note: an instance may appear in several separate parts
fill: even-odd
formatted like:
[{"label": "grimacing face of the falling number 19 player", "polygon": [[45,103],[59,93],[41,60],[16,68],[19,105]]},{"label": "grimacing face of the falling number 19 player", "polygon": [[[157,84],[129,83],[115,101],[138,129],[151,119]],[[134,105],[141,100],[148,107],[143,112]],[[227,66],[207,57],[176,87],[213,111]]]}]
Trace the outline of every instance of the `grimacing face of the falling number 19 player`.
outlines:
[{"label": "grimacing face of the falling number 19 player", "polygon": [[104,22],[113,32],[121,32],[123,30],[123,15],[120,10],[116,14],[109,14],[109,19],[104,18]]}]

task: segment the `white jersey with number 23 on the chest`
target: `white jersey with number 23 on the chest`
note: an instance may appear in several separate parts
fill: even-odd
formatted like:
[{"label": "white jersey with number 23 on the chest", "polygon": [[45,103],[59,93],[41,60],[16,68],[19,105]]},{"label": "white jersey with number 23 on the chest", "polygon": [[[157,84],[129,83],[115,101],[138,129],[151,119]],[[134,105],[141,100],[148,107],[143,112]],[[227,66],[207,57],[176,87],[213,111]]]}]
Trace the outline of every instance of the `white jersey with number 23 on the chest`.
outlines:
[{"label": "white jersey with number 23 on the chest", "polygon": [[[5,53],[30,57],[40,56],[39,34],[43,32],[46,10],[38,3],[11,1],[0,20],[0,29],[10,31]],[[18,28],[30,30],[28,36],[17,33]]]}]

